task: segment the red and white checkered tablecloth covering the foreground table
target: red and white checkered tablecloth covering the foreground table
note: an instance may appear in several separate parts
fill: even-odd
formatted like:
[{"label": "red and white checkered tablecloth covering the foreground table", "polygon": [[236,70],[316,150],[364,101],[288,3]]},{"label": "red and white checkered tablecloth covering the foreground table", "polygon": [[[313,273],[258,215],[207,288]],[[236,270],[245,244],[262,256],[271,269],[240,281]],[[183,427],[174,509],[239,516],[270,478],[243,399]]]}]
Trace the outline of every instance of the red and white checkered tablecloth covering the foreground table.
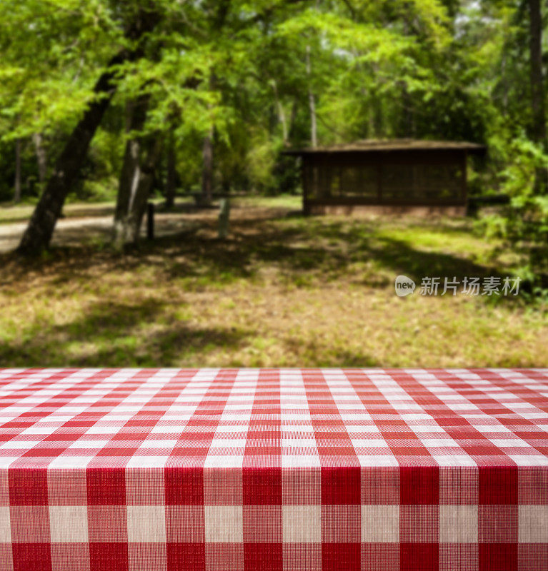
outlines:
[{"label": "red and white checkered tablecloth covering the foreground table", "polygon": [[0,570],[548,570],[548,370],[0,370]]}]

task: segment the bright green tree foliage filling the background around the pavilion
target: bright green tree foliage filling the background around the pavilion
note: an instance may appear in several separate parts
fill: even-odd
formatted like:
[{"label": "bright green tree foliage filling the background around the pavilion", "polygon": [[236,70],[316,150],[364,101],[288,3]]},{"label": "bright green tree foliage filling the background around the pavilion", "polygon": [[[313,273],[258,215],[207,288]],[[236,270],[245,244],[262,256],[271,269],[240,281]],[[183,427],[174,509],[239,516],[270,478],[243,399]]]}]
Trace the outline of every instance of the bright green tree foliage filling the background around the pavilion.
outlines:
[{"label": "bright green tree foliage filling the background around the pavilion", "polygon": [[[143,133],[173,136],[179,192],[198,191],[201,148],[213,133],[219,190],[294,192],[297,165],[281,152],[372,137],[487,143],[473,193],[512,203],[484,228],[505,236],[541,279],[546,209],[532,193],[547,166],[532,143],[529,14],[509,0],[4,0],[0,20],[0,200],[11,198],[22,141],[24,195],[39,193],[33,133],[48,166],[94,98],[107,62],[116,94],[74,196],[111,196],[119,177],[126,105],[148,94]],[[139,42],[139,18],[158,24]],[[546,26],[544,26],[546,28]],[[546,31],[546,30],[544,30]],[[164,151],[165,151],[164,146]],[[158,176],[165,177],[166,157]],[[159,188],[163,188],[159,184]],[[489,230],[489,228],[491,230]]]}]

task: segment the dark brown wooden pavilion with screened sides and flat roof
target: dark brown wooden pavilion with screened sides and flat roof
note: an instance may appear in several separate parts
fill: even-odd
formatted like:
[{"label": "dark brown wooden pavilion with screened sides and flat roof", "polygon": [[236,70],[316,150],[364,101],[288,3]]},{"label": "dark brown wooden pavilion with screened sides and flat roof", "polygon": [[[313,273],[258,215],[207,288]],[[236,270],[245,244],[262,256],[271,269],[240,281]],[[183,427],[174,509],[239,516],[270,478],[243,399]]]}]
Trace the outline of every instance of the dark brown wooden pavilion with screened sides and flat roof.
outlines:
[{"label": "dark brown wooden pavilion with screened sides and flat roof", "polygon": [[464,215],[467,156],[485,147],[459,141],[364,140],[285,151],[302,158],[305,213]]}]

